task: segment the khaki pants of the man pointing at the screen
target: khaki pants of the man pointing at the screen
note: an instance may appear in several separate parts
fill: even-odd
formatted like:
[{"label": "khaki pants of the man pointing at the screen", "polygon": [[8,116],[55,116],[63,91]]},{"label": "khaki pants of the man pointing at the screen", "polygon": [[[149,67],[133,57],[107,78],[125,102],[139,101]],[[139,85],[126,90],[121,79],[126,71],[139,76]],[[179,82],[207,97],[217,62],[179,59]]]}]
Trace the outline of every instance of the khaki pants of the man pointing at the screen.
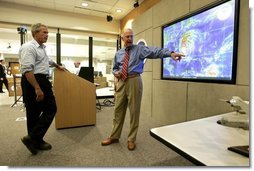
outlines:
[{"label": "khaki pants of the man pointing at the screen", "polygon": [[136,141],[139,126],[142,91],[143,85],[141,76],[128,78],[125,82],[122,80],[118,81],[115,93],[113,128],[110,138],[120,138],[126,110],[127,107],[129,107],[130,132],[128,135],[128,141]]}]

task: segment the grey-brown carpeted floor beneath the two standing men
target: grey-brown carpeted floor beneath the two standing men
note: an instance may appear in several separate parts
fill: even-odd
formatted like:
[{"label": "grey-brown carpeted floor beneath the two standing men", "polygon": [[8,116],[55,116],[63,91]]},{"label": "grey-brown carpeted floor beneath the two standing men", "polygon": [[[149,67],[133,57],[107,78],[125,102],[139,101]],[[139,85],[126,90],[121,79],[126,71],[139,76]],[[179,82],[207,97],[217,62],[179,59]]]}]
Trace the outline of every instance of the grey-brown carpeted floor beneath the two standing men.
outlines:
[{"label": "grey-brown carpeted floor beneath the two standing men", "polygon": [[113,107],[102,107],[102,110],[97,110],[95,126],[56,130],[53,122],[45,136],[45,140],[52,144],[52,150],[33,156],[20,141],[26,135],[25,112],[21,111],[21,106],[0,105],[0,165],[11,168],[193,166],[150,136],[149,130],[161,125],[144,113],[141,113],[134,151],[127,149],[129,113],[126,114],[120,143],[101,146],[101,141],[111,131],[112,115]]}]

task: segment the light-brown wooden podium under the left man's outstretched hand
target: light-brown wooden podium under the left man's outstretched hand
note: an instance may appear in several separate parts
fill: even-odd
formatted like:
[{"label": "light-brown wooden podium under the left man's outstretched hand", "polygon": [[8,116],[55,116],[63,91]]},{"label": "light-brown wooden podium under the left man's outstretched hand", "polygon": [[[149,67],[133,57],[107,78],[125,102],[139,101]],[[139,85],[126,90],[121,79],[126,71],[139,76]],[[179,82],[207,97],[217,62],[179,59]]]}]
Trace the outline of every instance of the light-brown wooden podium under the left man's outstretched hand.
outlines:
[{"label": "light-brown wooden podium under the left man's outstretched hand", "polygon": [[96,87],[68,71],[54,71],[57,104],[55,127],[71,128],[96,123]]}]

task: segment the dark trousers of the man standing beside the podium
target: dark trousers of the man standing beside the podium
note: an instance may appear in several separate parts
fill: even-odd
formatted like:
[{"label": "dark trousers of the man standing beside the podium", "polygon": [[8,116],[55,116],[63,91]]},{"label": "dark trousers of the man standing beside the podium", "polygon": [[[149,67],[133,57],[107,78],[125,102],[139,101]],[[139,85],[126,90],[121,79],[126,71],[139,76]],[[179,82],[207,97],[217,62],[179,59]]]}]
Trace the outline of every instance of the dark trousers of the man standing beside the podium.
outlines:
[{"label": "dark trousers of the man standing beside the podium", "polygon": [[35,90],[24,75],[21,78],[21,86],[26,107],[28,135],[36,141],[42,141],[55,117],[57,107],[52,85],[46,75],[35,74],[35,78],[44,93],[42,102],[36,101]]}]

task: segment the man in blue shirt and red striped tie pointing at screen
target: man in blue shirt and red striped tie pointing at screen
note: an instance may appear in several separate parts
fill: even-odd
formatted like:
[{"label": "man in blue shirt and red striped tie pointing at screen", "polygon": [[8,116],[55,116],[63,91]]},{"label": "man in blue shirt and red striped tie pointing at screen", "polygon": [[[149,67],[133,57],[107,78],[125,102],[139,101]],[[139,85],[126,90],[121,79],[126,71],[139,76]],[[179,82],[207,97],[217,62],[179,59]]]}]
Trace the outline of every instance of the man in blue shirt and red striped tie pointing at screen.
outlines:
[{"label": "man in blue shirt and red striped tie pointing at screen", "polygon": [[[110,145],[119,142],[121,136],[124,118],[127,106],[130,111],[130,131],[128,135],[127,147],[134,150],[135,141],[139,127],[139,116],[142,97],[142,79],[140,74],[143,73],[144,60],[171,57],[175,61],[180,61],[184,56],[168,49],[158,47],[148,47],[133,44],[133,31],[126,29],[122,35],[124,48],[115,54],[113,74],[116,77],[115,84],[115,111],[113,118],[113,128],[109,138],[101,142],[102,145]],[[127,79],[123,74],[124,58],[128,50],[128,71]]]}]

